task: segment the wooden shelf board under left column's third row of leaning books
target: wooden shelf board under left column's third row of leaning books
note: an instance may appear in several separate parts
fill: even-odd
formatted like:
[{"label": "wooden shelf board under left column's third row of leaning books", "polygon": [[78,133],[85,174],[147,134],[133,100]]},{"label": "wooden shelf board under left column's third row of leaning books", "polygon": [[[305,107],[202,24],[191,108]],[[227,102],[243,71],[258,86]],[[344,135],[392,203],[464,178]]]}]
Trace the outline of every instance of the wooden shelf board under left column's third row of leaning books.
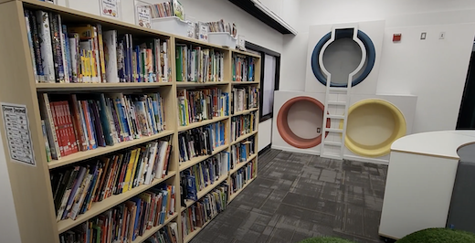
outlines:
[{"label": "wooden shelf board under left column's third row of leaning books", "polygon": [[111,207],[117,206],[121,204],[122,202],[128,200],[129,198],[132,198],[132,196],[139,195],[140,193],[152,188],[153,186],[163,183],[164,181],[171,178],[175,174],[176,172],[174,171],[168,172],[168,174],[164,178],[153,180],[152,184],[150,185],[141,185],[139,187],[135,187],[132,190],[122,193],[120,195],[111,195],[110,197],[102,200],[101,202],[92,203],[90,210],[86,211],[86,213],[82,215],[79,215],[76,218],[76,220],[72,220],[68,218],[65,220],[58,221],[58,233],[61,234],[72,227],[79,226],[81,223],[86,222],[86,220],[100,215],[101,213],[107,211]]}]

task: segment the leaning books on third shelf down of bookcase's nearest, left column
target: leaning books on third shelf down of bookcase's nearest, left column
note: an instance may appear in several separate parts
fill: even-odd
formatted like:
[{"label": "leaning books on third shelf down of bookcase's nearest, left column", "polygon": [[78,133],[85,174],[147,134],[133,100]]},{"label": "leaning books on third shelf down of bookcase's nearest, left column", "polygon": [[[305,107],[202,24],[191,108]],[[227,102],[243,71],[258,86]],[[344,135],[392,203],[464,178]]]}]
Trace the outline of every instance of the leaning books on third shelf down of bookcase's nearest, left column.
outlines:
[{"label": "leaning books on third shelf down of bookcase's nearest, left column", "polygon": [[74,220],[93,202],[164,178],[171,151],[169,142],[157,141],[51,173],[57,220]]}]

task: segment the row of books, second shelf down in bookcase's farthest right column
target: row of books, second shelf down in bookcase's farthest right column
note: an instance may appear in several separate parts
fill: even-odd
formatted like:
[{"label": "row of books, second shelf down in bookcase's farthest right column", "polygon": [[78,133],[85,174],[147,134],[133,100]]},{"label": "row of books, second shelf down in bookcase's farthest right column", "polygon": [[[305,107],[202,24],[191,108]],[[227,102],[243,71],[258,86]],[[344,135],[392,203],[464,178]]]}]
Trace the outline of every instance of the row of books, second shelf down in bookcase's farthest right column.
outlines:
[{"label": "row of books, second shelf down in bookcase's farthest right column", "polygon": [[234,87],[231,90],[231,113],[258,108],[259,88]]}]

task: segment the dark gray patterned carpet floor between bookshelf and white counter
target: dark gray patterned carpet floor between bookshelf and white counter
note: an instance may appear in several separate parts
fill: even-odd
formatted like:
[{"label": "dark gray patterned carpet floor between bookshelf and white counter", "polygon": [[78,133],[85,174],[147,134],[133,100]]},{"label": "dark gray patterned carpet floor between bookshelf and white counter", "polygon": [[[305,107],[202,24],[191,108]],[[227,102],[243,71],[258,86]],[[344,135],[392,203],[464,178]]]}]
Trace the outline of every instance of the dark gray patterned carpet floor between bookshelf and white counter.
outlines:
[{"label": "dark gray patterned carpet floor between bookshelf and white counter", "polygon": [[382,242],[386,172],[385,165],[269,150],[259,155],[258,178],[191,242]]}]

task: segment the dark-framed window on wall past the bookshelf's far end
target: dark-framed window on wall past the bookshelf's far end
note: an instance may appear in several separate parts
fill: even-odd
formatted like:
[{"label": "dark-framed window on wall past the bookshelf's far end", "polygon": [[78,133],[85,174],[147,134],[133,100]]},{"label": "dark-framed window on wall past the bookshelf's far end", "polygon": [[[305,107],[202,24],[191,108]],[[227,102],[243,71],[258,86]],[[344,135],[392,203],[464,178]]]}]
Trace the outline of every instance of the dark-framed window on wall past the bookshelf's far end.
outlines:
[{"label": "dark-framed window on wall past the bookshelf's far end", "polygon": [[259,122],[264,122],[273,117],[274,90],[279,90],[280,53],[249,42],[246,48],[261,57]]}]

